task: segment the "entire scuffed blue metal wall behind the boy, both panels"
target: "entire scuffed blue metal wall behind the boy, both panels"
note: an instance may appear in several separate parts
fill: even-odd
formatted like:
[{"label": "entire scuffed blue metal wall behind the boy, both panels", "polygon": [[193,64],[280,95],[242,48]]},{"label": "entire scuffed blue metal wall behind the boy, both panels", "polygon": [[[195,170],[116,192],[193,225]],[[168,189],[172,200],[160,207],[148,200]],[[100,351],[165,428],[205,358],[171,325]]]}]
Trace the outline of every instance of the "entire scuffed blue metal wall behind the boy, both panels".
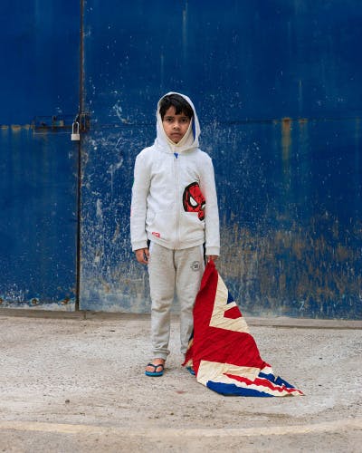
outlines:
[{"label": "entire scuffed blue metal wall behind the boy, both panels", "polygon": [[214,159],[218,267],[243,311],[362,317],[357,0],[85,0],[82,18],[70,1],[21,4],[0,6],[3,306],[76,295],[81,88],[81,309],[149,311],[130,189],[172,90],[195,102]]}]

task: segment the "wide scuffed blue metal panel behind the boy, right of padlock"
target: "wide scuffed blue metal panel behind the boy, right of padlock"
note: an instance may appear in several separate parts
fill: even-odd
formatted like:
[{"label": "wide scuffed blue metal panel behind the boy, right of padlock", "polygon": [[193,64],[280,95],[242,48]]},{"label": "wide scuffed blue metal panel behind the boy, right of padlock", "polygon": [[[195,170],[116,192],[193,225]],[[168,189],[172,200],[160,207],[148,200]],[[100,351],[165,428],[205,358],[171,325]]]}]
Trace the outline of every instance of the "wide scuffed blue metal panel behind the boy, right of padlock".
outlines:
[{"label": "wide scuffed blue metal panel behind the boy, right of padlock", "polygon": [[219,269],[243,310],[362,315],[357,1],[88,0],[81,307],[149,310],[129,246],[134,159],[167,91],[214,159]]}]

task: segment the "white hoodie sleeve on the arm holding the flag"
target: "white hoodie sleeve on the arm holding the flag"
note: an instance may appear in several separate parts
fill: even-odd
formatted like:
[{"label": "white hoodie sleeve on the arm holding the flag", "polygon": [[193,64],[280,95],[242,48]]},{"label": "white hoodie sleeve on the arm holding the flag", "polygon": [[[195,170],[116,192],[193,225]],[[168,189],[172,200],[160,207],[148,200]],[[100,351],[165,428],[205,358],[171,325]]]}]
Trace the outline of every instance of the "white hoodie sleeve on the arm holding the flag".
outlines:
[{"label": "white hoodie sleeve on the arm holding the flag", "polygon": [[206,255],[220,255],[220,226],[217,206],[216,187],[214,182],[214,166],[207,155],[203,162],[200,189],[205,197],[205,248]]}]

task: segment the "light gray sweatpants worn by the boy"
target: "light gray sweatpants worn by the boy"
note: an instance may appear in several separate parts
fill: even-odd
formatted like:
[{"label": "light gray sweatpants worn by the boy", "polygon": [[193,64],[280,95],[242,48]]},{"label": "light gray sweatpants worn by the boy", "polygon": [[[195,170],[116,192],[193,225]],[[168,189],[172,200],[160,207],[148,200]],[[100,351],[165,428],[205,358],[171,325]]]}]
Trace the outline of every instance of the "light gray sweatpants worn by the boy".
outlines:
[{"label": "light gray sweatpants worn by the boy", "polygon": [[204,274],[204,247],[183,250],[151,243],[149,247],[149,288],[151,306],[151,342],[154,358],[169,354],[170,309],[176,294],[180,304],[181,353],[185,354],[193,330],[195,296]]}]

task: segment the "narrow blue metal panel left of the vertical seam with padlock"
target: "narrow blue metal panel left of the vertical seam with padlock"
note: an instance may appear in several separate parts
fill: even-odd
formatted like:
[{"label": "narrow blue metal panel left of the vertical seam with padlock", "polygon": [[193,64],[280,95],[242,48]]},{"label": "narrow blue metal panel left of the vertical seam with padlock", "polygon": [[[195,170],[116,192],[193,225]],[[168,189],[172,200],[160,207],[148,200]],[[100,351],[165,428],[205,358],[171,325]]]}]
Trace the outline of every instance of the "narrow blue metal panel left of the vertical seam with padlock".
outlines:
[{"label": "narrow blue metal panel left of the vertical seam with padlock", "polygon": [[0,306],[74,308],[80,7],[0,5]]}]

